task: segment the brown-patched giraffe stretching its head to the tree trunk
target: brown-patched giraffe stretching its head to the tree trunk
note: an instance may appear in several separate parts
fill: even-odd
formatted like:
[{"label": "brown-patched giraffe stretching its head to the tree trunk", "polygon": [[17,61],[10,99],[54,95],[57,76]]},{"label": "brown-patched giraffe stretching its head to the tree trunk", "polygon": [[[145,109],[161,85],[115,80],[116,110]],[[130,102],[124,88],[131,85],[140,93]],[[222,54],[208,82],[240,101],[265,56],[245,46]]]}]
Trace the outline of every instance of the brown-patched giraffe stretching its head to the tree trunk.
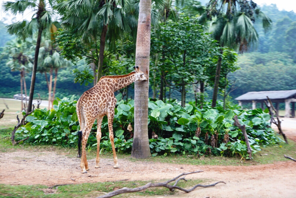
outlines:
[{"label": "brown-patched giraffe stretching its head to the tree trunk", "polygon": [[[108,117],[109,138],[111,141],[114,168],[119,168],[114,146],[113,118],[114,108],[117,102],[114,92],[120,90],[136,80],[147,80],[148,76],[142,72],[138,66],[133,67],[135,71],[120,76],[103,76],[99,82],[91,89],[84,92],[76,104],[77,117],[80,124],[78,131],[78,156],[81,157],[81,173],[87,173],[89,166],[86,159],[86,142],[91,131],[91,127],[97,119],[97,153],[96,168],[100,163],[100,140],[102,137],[101,125],[105,115]],[[82,148],[81,148],[82,145]]]}]

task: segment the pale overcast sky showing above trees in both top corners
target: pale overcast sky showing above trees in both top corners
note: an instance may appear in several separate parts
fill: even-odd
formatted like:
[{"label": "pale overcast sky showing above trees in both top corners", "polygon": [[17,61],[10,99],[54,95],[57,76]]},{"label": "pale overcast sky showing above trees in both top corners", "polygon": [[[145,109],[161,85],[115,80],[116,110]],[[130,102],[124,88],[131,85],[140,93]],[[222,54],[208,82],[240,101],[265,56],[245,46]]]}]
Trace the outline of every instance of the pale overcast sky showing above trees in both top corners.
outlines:
[{"label": "pale overcast sky showing above trees in both top corners", "polygon": [[[5,2],[7,0],[0,0],[0,4]],[[9,0],[13,1],[13,0]],[[291,11],[293,10],[296,12],[296,1],[295,0],[253,0],[255,3],[258,5],[262,4],[276,4],[276,6],[279,8],[279,10],[286,10],[286,11]],[[1,6],[2,7],[2,6]],[[30,20],[32,17],[32,12],[25,12],[24,15],[16,15],[14,18],[13,15],[4,13],[2,9],[0,10],[0,21],[5,21],[5,23],[12,23],[12,22],[17,22],[21,21],[24,19]]]}]

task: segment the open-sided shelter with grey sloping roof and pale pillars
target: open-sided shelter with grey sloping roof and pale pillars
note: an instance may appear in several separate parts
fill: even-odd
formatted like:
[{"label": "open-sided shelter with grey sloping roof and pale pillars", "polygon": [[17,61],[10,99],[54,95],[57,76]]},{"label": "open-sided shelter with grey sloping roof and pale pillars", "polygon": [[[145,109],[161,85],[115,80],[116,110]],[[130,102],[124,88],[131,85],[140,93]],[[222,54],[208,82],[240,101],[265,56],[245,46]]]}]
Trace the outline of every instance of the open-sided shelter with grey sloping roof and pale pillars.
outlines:
[{"label": "open-sided shelter with grey sloping roof and pale pillars", "polygon": [[[285,117],[290,117],[290,115],[295,117],[296,90],[247,92],[235,100],[238,100],[240,106],[243,102],[252,103],[252,109],[255,109],[256,103],[261,103],[261,108],[263,108],[264,101],[267,101],[266,96],[276,103],[277,110],[279,110],[279,103],[285,103]],[[290,104],[292,104],[292,111]]]}]

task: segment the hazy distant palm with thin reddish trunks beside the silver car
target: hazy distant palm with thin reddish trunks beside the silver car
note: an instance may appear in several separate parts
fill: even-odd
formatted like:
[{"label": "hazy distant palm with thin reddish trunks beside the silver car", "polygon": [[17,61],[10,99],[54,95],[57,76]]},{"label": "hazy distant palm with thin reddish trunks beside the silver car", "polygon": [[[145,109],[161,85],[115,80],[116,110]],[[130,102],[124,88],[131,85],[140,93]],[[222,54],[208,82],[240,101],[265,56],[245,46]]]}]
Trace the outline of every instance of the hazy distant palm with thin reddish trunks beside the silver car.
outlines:
[{"label": "hazy distant palm with thin reddish trunks beside the silver car", "polygon": [[[4,52],[1,56],[9,57],[6,65],[11,68],[12,71],[20,71],[20,93],[23,94],[23,88],[25,90],[25,98],[27,104],[27,86],[25,81],[25,72],[29,71],[33,64],[31,54],[31,46],[33,44],[30,41],[22,41],[19,38],[9,41],[4,48]],[[21,111],[23,109],[23,97],[21,97]]]}]

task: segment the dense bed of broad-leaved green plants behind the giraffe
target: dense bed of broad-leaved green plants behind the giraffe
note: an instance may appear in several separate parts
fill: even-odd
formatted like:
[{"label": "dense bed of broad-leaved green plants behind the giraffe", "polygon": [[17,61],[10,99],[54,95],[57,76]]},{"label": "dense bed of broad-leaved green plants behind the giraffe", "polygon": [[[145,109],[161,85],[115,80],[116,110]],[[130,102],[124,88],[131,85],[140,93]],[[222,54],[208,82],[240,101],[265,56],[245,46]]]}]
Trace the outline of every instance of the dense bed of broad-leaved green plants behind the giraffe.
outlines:
[{"label": "dense bed of broad-leaved green plants behind the giraffe", "polygon": [[[120,98],[120,96],[118,97]],[[120,100],[115,108],[114,142],[118,152],[130,152],[132,133],[127,130],[133,126],[134,101]],[[247,157],[247,146],[242,132],[233,125],[234,115],[246,126],[252,152],[260,146],[278,143],[274,131],[269,127],[269,114],[262,109],[242,110],[239,106],[223,110],[218,102],[216,108],[204,104],[203,108],[187,104],[181,107],[177,100],[164,103],[161,100],[149,101],[148,136],[152,155],[193,154],[193,155],[239,155]],[[76,132],[79,123],[76,114],[76,101],[68,98],[54,101],[51,110],[36,109],[27,117],[28,123],[17,132],[19,138],[30,136],[31,143],[44,143],[62,146],[76,146]],[[96,146],[96,122],[89,136],[87,147]],[[157,139],[152,135],[158,135]],[[100,148],[112,151],[109,140],[107,117],[102,122]]]}]

